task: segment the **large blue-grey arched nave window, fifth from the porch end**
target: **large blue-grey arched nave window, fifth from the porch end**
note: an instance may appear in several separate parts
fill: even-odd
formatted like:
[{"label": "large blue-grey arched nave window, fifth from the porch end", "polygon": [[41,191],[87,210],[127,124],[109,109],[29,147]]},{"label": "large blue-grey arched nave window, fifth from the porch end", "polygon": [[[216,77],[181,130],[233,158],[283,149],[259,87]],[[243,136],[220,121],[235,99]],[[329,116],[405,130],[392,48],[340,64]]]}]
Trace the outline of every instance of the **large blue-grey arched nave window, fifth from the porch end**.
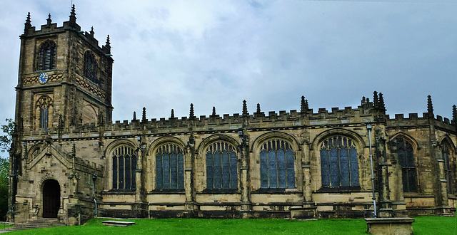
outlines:
[{"label": "large blue-grey arched nave window, fifth from the porch end", "polygon": [[353,140],[332,136],[323,140],[321,151],[322,187],[358,187],[357,148]]}]

